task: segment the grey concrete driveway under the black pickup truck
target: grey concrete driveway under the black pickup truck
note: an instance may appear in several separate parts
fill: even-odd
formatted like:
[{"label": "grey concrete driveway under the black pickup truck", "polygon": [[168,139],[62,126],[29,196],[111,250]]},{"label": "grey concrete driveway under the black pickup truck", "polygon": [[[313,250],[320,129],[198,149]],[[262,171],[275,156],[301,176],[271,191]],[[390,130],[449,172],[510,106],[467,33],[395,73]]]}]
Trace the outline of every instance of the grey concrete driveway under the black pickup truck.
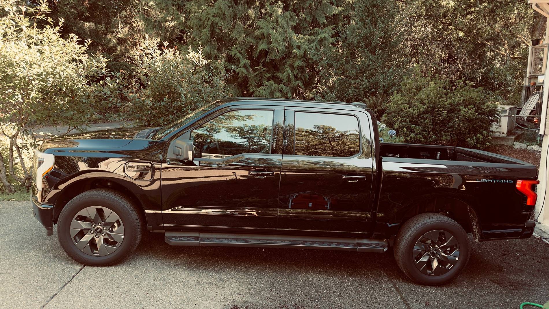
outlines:
[{"label": "grey concrete driveway under the black pickup truck", "polygon": [[0,203],[1,308],[518,308],[549,300],[549,245],[473,242],[466,270],[410,282],[390,253],[171,247],[147,233],[111,267],[82,266],[29,202]]}]

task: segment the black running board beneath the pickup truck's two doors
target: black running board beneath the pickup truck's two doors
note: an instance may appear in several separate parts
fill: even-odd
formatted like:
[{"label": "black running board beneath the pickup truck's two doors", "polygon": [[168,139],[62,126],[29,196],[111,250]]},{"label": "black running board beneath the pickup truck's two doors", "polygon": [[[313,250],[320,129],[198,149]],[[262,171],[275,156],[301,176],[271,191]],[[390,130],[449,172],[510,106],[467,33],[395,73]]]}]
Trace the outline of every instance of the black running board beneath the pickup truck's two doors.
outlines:
[{"label": "black running board beneath the pickup truck's two doors", "polygon": [[279,247],[378,253],[385,252],[388,247],[386,239],[225,234],[185,231],[166,231],[164,240],[172,246]]}]

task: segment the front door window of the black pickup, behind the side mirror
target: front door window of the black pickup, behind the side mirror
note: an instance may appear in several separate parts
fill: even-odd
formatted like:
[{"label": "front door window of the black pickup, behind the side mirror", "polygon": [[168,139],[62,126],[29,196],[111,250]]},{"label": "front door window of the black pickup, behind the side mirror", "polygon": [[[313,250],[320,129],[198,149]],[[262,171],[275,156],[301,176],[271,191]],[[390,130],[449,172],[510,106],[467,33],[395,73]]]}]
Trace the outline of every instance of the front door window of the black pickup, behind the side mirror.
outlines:
[{"label": "front door window of the black pickup, behind the side mirror", "polygon": [[203,158],[240,153],[270,153],[273,111],[232,111],[191,132],[193,146]]}]

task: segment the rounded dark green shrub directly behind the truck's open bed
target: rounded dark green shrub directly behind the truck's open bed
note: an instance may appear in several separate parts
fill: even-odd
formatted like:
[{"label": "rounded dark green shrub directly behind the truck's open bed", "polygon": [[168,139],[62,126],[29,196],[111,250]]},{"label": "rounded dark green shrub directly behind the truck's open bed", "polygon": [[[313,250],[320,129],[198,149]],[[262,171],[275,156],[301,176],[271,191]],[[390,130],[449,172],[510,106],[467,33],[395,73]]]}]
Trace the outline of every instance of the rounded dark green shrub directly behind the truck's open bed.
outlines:
[{"label": "rounded dark green shrub directly behind the truck's open bed", "polygon": [[484,148],[496,119],[496,105],[483,89],[416,72],[391,97],[383,122],[406,143]]}]

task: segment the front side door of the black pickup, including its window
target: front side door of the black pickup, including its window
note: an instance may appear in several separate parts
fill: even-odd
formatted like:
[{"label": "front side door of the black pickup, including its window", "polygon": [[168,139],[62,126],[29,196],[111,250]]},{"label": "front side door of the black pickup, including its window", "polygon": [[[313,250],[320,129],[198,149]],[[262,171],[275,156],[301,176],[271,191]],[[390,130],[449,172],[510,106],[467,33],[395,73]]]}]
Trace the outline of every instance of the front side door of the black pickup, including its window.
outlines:
[{"label": "front side door of the black pickup, including its window", "polygon": [[187,130],[193,161],[162,168],[165,229],[276,229],[283,112],[231,107]]}]

